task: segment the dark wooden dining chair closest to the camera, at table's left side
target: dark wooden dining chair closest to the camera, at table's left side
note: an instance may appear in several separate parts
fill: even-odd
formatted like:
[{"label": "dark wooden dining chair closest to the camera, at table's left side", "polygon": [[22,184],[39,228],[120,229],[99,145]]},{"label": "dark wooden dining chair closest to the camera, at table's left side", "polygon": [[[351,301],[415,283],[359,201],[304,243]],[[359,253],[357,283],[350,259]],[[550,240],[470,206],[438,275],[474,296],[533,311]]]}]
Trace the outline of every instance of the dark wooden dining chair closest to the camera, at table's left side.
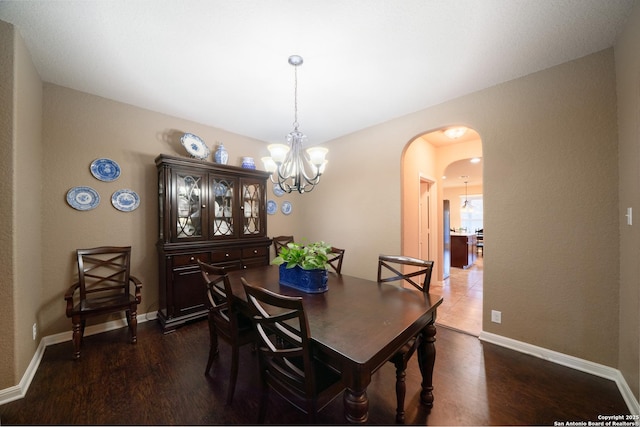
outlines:
[{"label": "dark wooden dining chair closest to the camera, at table's left side", "polygon": [[340,373],[314,358],[302,298],[279,295],[241,279],[258,333],[262,396],[258,423],[264,422],[272,388],[305,412],[310,422],[345,387]]}]

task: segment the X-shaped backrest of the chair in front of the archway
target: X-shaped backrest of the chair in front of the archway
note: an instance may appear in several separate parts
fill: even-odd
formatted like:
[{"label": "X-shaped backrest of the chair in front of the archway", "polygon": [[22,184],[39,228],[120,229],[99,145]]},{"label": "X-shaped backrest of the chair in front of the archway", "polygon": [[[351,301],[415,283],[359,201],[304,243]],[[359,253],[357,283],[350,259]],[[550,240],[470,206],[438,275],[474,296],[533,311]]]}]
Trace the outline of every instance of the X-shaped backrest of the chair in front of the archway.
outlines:
[{"label": "X-shaped backrest of the chair in front of the archway", "polygon": [[[379,283],[406,280],[416,289],[422,292],[429,292],[432,272],[433,261],[398,255],[380,255],[378,257]],[[385,273],[387,277],[384,277]],[[420,281],[420,276],[424,276],[421,283],[413,280],[416,278],[416,280]]]}]

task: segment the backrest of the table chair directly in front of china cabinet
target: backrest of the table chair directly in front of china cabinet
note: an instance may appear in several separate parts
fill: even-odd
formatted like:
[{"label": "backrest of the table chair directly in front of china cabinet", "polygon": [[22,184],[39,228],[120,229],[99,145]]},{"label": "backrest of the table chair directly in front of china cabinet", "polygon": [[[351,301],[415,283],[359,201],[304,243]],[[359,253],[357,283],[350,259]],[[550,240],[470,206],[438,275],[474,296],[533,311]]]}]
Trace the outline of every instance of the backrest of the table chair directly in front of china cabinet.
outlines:
[{"label": "backrest of the table chair directly in front of china cabinet", "polygon": [[200,274],[206,286],[206,304],[209,315],[213,316],[219,333],[229,338],[237,335],[238,316],[235,314],[235,298],[231,291],[231,282],[224,267],[204,263],[198,260]]}]

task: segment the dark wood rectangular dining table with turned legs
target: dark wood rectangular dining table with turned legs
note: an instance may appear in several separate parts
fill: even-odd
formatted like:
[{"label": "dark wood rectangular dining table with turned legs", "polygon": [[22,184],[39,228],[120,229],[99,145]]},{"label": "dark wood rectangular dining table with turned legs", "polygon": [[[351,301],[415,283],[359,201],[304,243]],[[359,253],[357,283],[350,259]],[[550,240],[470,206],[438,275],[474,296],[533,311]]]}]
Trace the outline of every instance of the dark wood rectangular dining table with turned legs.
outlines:
[{"label": "dark wood rectangular dining table with turned legs", "polygon": [[[342,373],[345,418],[365,423],[371,376],[404,344],[422,334],[417,350],[422,373],[421,403],[433,405],[436,309],[442,298],[415,289],[329,273],[329,289],[312,294],[280,285],[278,267],[270,265],[229,272],[240,309],[247,299],[240,278],[283,295],[300,296],[307,313],[316,357]],[[391,388],[394,385],[390,384]]]}]

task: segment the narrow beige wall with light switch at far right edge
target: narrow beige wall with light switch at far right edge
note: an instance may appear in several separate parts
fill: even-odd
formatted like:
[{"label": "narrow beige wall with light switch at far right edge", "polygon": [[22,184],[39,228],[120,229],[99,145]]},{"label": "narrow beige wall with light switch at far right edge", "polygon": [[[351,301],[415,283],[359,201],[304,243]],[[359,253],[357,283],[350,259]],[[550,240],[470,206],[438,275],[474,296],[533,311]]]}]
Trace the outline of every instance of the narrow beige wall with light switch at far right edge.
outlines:
[{"label": "narrow beige wall with light switch at far right edge", "polygon": [[619,211],[633,208],[634,224],[620,221],[620,354],[622,371],[640,395],[640,6],[615,46],[618,94]]}]

